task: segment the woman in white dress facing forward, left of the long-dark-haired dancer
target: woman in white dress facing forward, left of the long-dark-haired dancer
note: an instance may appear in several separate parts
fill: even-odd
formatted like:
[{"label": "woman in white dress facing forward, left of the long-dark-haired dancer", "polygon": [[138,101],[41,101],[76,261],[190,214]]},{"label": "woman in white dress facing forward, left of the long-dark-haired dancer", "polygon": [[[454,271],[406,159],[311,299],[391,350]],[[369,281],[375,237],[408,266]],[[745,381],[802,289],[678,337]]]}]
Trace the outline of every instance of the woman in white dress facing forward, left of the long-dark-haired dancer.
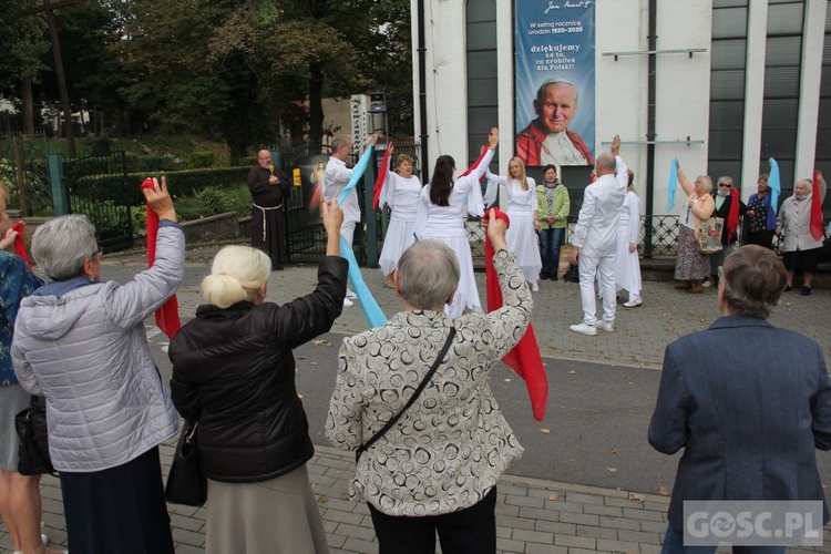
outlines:
[{"label": "woman in white dress facing forward, left of the long-dark-haired dancer", "polygon": [[[390,146],[390,154],[392,154],[392,146]],[[396,166],[398,173],[387,172],[381,191],[381,205],[386,203],[392,209],[379,259],[381,271],[387,277],[386,285],[389,288],[396,288],[392,283],[392,273],[398,267],[401,254],[416,239],[412,232],[422,188],[419,177],[412,174],[412,157],[399,154],[396,158]]]}]

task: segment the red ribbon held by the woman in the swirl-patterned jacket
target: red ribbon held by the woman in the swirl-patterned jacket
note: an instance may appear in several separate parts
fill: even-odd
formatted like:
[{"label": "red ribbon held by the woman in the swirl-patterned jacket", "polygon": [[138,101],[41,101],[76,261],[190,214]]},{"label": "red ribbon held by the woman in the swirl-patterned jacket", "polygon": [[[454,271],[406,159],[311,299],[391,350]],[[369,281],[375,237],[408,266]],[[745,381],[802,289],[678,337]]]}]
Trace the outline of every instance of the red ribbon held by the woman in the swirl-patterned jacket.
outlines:
[{"label": "red ribbon held by the woman in the swirl-patterned jacket", "polygon": [[[496,208],[497,219],[504,219],[507,224],[511,220],[507,214]],[[488,222],[490,209],[485,212],[483,222]],[[488,311],[491,312],[502,307],[502,290],[500,289],[496,268],[493,267],[493,255],[495,254],[488,234],[485,234],[485,290],[488,294]],[[525,335],[520,342],[502,358],[505,365],[513,369],[520,377],[525,380],[531,398],[531,408],[534,412],[534,419],[542,421],[545,417],[545,403],[548,400],[548,379],[543,368],[543,359],[540,356],[540,346],[536,343],[534,327],[529,322]]]}]

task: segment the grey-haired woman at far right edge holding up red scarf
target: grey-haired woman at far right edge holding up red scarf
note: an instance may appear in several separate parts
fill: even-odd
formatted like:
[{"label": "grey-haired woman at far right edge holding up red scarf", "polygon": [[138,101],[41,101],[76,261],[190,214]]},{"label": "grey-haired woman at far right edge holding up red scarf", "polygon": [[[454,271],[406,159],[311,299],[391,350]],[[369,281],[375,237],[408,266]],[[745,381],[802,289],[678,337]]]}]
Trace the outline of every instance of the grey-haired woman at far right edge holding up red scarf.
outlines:
[{"label": "grey-haired woman at far right edge holding up red scarf", "polygon": [[[825,199],[825,179],[819,179],[820,204]],[[786,198],[777,215],[776,234],[782,237],[784,268],[788,270],[788,285],[784,290],[793,288],[793,277],[802,271],[803,285],[800,294],[809,296],[813,284],[813,273],[817,270],[822,237],[811,235],[811,199],[813,183],[804,178],[797,183],[793,196]],[[821,224],[822,222],[820,222]]]}]

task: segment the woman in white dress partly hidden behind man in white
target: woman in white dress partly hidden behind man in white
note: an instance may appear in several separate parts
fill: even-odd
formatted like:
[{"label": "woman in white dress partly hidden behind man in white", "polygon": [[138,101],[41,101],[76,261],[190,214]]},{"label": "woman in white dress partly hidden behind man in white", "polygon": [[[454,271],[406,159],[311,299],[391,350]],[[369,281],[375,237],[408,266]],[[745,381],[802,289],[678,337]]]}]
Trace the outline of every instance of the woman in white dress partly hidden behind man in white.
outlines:
[{"label": "woman in white dress partly hidden behind man in white", "polygon": [[632,189],[635,174],[629,170],[629,184],[626,197],[620,208],[620,219],[617,225],[617,264],[615,280],[617,290],[629,293],[629,299],[624,302],[627,308],[637,308],[640,300],[640,259],[638,258],[638,240],[640,239],[640,197]]}]

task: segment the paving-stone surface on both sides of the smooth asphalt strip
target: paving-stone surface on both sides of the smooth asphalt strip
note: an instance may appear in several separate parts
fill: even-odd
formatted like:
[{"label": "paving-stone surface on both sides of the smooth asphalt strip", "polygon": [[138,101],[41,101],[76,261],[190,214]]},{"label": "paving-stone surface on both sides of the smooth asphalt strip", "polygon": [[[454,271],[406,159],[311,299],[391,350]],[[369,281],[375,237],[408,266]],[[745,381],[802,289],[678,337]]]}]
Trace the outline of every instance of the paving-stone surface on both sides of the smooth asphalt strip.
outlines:
[{"label": "paving-stone surface on both sides of the smooth asphalt strip", "polygon": [[[188,252],[187,277],[179,289],[179,311],[189,318],[199,304],[198,283],[216,248]],[[141,257],[104,258],[104,277],[125,280],[143,265]],[[363,269],[363,277],[382,310],[389,316],[399,309],[392,290],[383,287],[378,269]],[[476,274],[484,290],[484,274]],[[269,297],[295,298],[306,294],[316,281],[316,267],[293,266],[274,271],[269,278]],[[659,369],[664,348],[671,340],[707,327],[718,317],[716,294],[687,295],[671,283],[645,283],[644,305],[636,309],[618,308],[613,334],[585,337],[568,330],[582,319],[577,285],[543,281],[534,294],[533,322],[544,357],[597,361],[609,365]],[[831,291],[814,290],[810,297],[786,294],[770,318],[773,325],[787,327],[822,346],[831,358]],[[154,324],[147,320],[147,327]],[[334,331],[353,334],[366,329],[358,306],[345,308]],[[161,447],[166,473],[175,440]],[[644,444],[644,448],[648,445]],[[308,463],[309,478],[318,495],[318,506],[328,533],[332,553],[377,552],[375,532],[363,503],[348,499],[348,480],[353,471],[352,455],[328,447],[316,447]],[[66,527],[58,480],[45,475],[41,484],[45,532],[53,544],[65,546]],[[204,552],[205,511],[170,505],[173,536],[179,554]],[[632,491],[618,491],[560,483],[514,475],[503,475],[497,485],[497,548],[503,553],[583,554],[589,552],[658,553],[666,530],[668,497]],[[831,530],[824,530],[823,547],[792,548],[791,553],[831,552]],[[6,527],[0,526],[0,553],[11,552]],[[722,551],[719,551],[722,552]],[[724,551],[727,552],[727,551]]]}]

